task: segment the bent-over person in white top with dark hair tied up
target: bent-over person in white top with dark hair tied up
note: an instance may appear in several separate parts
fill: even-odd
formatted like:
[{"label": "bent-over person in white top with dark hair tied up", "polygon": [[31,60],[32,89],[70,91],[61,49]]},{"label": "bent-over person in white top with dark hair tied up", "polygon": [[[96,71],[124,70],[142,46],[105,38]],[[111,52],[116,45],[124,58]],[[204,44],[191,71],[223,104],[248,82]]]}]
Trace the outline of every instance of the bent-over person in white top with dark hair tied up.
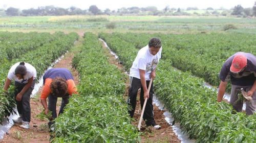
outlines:
[{"label": "bent-over person in white top with dark hair tied up", "polygon": [[29,129],[31,118],[30,95],[35,86],[36,69],[29,63],[15,63],[9,70],[4,90],[8,90],[11,81],[15,81],[15,99],[19,116],[14,123],[22,123],[20,127]]}]

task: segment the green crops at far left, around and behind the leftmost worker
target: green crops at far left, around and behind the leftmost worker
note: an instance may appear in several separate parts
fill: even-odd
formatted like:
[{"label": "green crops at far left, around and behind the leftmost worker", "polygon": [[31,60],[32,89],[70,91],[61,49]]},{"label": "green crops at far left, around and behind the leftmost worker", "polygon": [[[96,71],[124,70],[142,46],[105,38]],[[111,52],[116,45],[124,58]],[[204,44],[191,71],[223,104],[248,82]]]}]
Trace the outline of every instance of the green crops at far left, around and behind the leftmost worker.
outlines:
[{"label": "green crops at far left, around and behind the leftmost worker", "polygon": [[37,78],[40,78],[54,60],[71,49],[77,39],[76,33],[0,33],[0,57],[1,61],[4,60],[0,66],[0,122],[14,111],[16,105],[13,88],[8,92],[2,90],[10,67],[16,62],[28,62],[36,68]]}]

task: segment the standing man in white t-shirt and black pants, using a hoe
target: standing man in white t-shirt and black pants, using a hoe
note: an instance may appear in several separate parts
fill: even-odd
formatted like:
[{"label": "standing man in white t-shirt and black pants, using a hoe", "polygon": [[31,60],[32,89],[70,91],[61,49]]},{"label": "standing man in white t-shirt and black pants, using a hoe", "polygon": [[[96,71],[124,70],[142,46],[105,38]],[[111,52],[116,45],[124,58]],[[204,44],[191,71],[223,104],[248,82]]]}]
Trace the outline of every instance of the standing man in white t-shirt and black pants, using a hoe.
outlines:
[{"label": "standing man in white t-shirt and black pants, using a hoe", "polygon": [[153,113],[153,82],[150,91],[147,90],[150,79],[156,77],[156,66],[161,58],[161,41],[159,38],[152,38],[148,45],[139,50],[133,65],[130,69],[130,89],[127,104],[132,106],[128,112],[133,117],[136,108],[136,97],[138,89],[140,88],[140,105],[144,104],[144,99],[148,98],[143,114],[143,120],[146,126],[153,126],[155,129],[160,129],[154,120]]}]

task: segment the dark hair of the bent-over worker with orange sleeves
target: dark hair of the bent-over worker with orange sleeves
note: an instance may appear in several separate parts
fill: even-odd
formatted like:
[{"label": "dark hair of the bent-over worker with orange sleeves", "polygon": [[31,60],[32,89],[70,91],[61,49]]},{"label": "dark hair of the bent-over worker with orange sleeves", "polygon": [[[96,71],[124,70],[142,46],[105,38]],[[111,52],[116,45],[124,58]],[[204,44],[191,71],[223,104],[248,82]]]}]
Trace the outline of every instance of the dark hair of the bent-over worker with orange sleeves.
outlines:
[{"label": "dark hair of the bent-over worker with orange sleeves", "polygon": [[64,97],[68,91],[68,85],[65,79],[56,77],[52,80],[50,85],[52,94],[55,97]]}]

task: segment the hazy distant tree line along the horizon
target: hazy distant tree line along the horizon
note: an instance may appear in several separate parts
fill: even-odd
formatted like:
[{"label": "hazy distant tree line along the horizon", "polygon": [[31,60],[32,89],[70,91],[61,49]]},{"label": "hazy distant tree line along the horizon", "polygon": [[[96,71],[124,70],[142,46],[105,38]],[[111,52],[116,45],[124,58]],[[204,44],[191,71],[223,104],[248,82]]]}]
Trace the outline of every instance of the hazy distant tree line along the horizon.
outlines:
[{"label": "hazy distant tree line along the horizon", "polygon": [[197,7],[188,7],[186,10],[182,10],[180,8],[169,8],[166,6],[162,10],[158,10],[157,7],[130,7],[130,8],[120,8],[118,10],[110,10],[105,9],[101,11],[98,9],[96,5],[92,5],[89,7],[88,10],[82,10],[76,7],[70,7],[68,9],[59,8],[54,6],[45,6],[45,7],[38,7],[37,9],[30,8],[20,11],[17,8],[10,7],[3,12],[3,9],[0,14],[3,15],[5,13],[7,16],[47,16],[47,15],[235,15],[238,17],[247,17],[247,16],[256,16],[256,2],[254,3],[253,7],[251,8],[243,8],[241,5],[237,5],[231,10],[226,9],[219,9],[215,10],[211,7],[205,9],[205,13],[188,13],[188,11],[196,11],[198,10]]}]

